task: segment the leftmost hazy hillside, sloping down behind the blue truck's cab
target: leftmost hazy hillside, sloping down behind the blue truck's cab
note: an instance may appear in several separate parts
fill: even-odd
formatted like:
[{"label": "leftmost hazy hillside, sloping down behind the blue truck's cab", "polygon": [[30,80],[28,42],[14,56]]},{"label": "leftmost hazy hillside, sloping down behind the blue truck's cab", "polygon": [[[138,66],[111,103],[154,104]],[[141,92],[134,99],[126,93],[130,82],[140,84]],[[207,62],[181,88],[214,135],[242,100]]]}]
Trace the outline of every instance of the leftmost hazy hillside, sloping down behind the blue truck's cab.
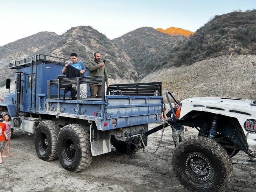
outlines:
[{"label": "leftmost hazy hillside, sloping down behind the blue truck's cab", "polygon": [[[14,70],[8,69],[9,62],[21,60],[36,53],[50,54],[52,42],[58,35],[54,32],[39,32],[32,36],[22,38],[15,42],[0,47],[0,86],[5,84],[5,79],[13,76]],[[4,71],[4,73],[3,73]]]}]

